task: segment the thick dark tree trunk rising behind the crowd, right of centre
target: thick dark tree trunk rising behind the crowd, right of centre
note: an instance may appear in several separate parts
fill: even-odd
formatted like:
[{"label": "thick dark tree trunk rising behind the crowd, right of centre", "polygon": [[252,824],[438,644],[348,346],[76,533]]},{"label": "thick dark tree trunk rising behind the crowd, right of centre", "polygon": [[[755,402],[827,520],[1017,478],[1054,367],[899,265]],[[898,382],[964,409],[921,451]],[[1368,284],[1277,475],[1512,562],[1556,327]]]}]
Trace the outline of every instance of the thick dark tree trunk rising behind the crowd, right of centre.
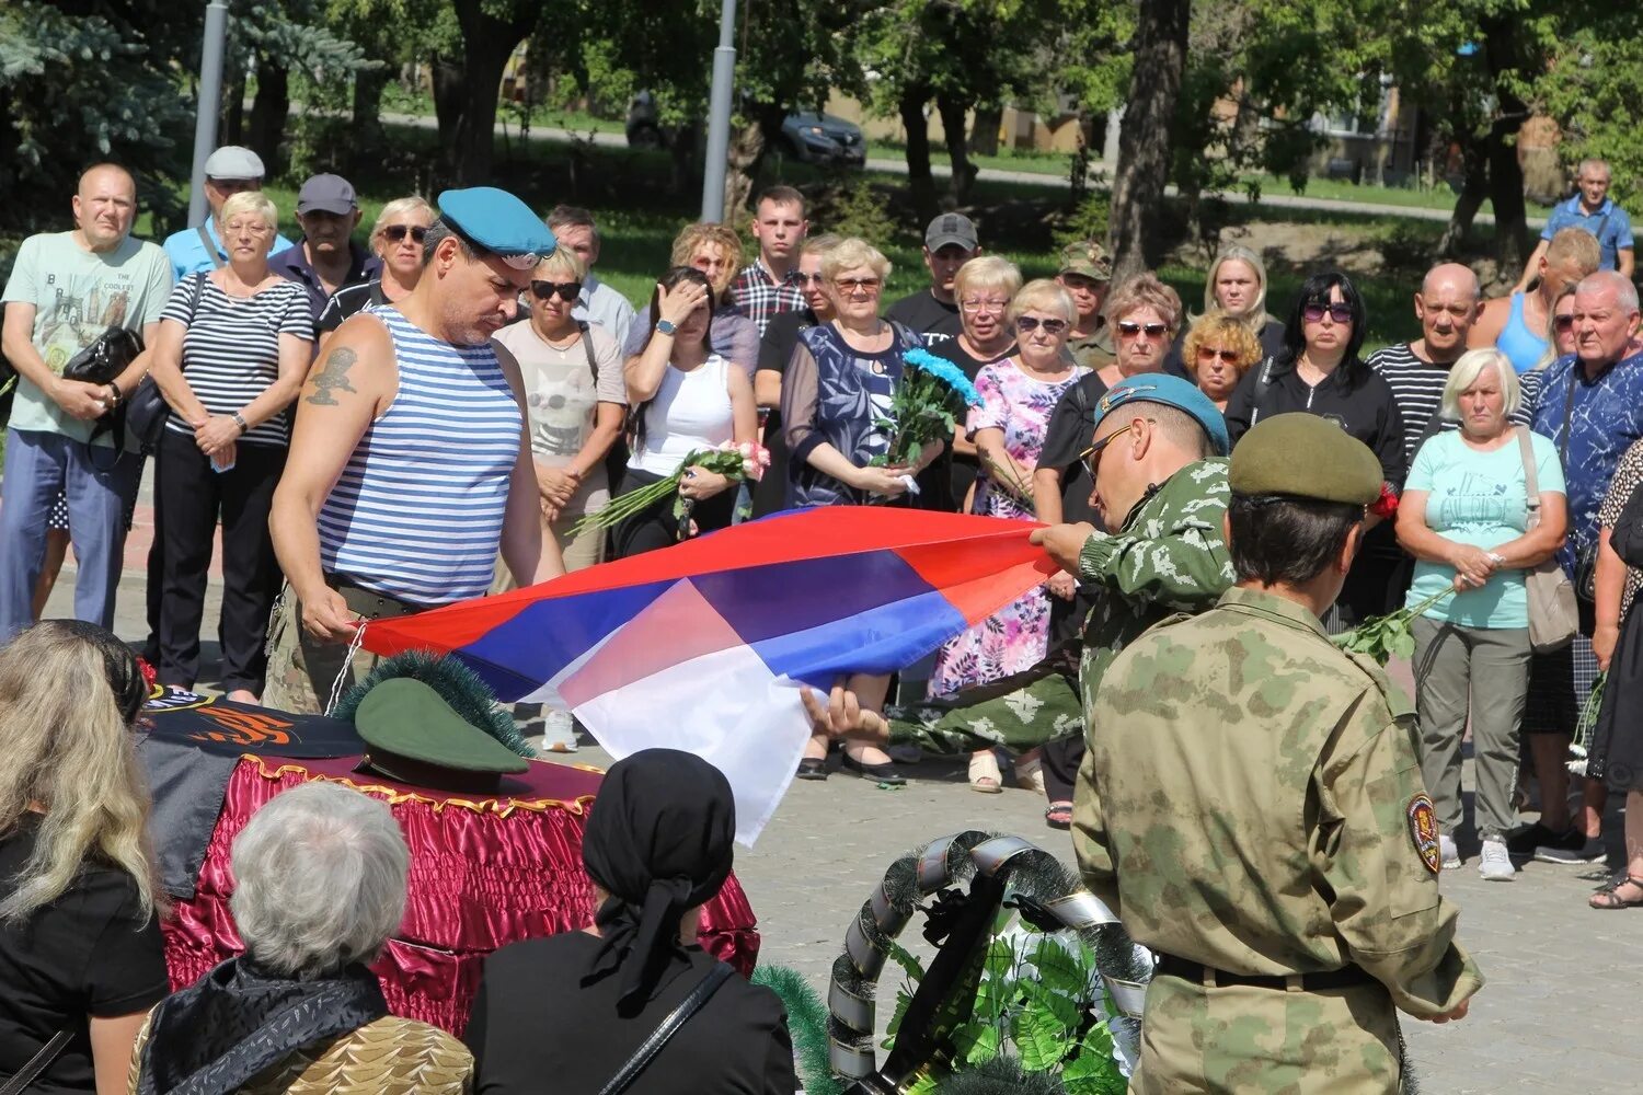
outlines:
[{"label": "thick dark tree trunk rising behind the crowd, right of centre", "polygon": [[1186,69],[1191,0],[1142,0],[1134,38],[1134,76],[1119,131],[1119,166],[1112,181],[1112,281],[1153,264],[1150,227],[1163,218],[1163,186],[1170,176],[1175,100]]}]

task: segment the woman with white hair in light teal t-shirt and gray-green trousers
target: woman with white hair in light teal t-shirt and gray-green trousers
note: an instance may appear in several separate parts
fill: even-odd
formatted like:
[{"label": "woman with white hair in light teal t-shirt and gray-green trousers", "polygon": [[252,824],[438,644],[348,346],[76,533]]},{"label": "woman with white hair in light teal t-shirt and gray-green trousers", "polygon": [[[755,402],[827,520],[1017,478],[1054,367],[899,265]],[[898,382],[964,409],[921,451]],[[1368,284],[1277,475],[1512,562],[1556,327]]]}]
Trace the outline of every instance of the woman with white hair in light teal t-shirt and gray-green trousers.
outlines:
[{"label": "woman with white hair in light teal t-shirt and gray-green trousers", "polygon": [[[1562,547],[1569,524],[1558,450],[1508,422],[1518,401],[1518,376],[1503,353],[1462,355],[1449,369],[1439,412],[1457,419],[1461,428],[1421,445],[1398,504],[1398,542],[1416,558],[1406,604],[1454,591],[1413,624],[1421,775],[1438,808],[1444,867],[1461,865],[1454,832],[1461,827],[1461,737],[1470,706],[1475,822],[1484,842],[1479,872],[1497,882],[1513,875],[1505,834],[1513,826],[1530,675],[1525,573]],[[1528,460],[1541,502],[1533,532],[1526,529]]]}]

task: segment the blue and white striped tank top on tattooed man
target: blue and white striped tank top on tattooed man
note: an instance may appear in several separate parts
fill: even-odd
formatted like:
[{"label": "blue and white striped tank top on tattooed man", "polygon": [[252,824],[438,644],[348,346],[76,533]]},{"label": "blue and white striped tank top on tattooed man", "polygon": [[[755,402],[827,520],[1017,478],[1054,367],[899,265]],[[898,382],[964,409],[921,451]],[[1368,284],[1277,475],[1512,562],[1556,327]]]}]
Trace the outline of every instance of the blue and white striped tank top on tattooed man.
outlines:
[{"label": "blue and white striped tank top on tattooed man", "polygon": [[490,343],[453,346],[376,307],[399,394],[319,512],[327,573],[411,604],[486,593],[522,420]]}]

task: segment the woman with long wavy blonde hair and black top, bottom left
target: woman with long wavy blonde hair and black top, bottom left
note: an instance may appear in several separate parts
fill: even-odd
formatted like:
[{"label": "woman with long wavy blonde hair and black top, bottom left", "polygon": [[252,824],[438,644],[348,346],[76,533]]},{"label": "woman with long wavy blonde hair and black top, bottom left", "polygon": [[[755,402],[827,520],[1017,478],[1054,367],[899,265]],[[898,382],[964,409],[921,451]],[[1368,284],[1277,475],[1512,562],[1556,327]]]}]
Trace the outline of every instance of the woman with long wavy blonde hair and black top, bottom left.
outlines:
[{"label": "woman with long wavy blonde hair and black top, bottom left", "polygon": [[169,988],[130,734],[146,696],[92,624],[46,621],[0,648],[0,1075],[21,1090],[123,1092]]}]

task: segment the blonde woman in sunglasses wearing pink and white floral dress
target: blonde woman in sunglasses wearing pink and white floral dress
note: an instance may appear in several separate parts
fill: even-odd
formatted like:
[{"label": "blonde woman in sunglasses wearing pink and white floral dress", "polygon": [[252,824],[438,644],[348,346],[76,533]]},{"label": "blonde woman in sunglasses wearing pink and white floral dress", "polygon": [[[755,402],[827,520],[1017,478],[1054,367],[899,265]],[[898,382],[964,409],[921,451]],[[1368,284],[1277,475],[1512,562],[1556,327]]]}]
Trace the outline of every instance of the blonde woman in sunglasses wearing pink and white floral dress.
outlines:
[{"label": "blonde woman in sunglasses wearing pink and white floral dress", "polygon": [[[1066,355],[1073,327],[1073,299],[1053,281],[1033,281],[1010,300],[1009,323],[1017,351],[976,376],[984,404],[969,412],[966,428],[979,453],[974,512],[1015,520],[1033,519],[1032,473],[1043,448],[1055,404],[1088,373]],[[1004,606],[937,655],[930,694],[986,685],[1032,668],[1050,642],[1050,598],[1040,586]],[[1032,781],[1037,758],[1017,765]],[[991,749],[969,758],[969,786],[996,795],[1002,790],[999,762]]]}]

